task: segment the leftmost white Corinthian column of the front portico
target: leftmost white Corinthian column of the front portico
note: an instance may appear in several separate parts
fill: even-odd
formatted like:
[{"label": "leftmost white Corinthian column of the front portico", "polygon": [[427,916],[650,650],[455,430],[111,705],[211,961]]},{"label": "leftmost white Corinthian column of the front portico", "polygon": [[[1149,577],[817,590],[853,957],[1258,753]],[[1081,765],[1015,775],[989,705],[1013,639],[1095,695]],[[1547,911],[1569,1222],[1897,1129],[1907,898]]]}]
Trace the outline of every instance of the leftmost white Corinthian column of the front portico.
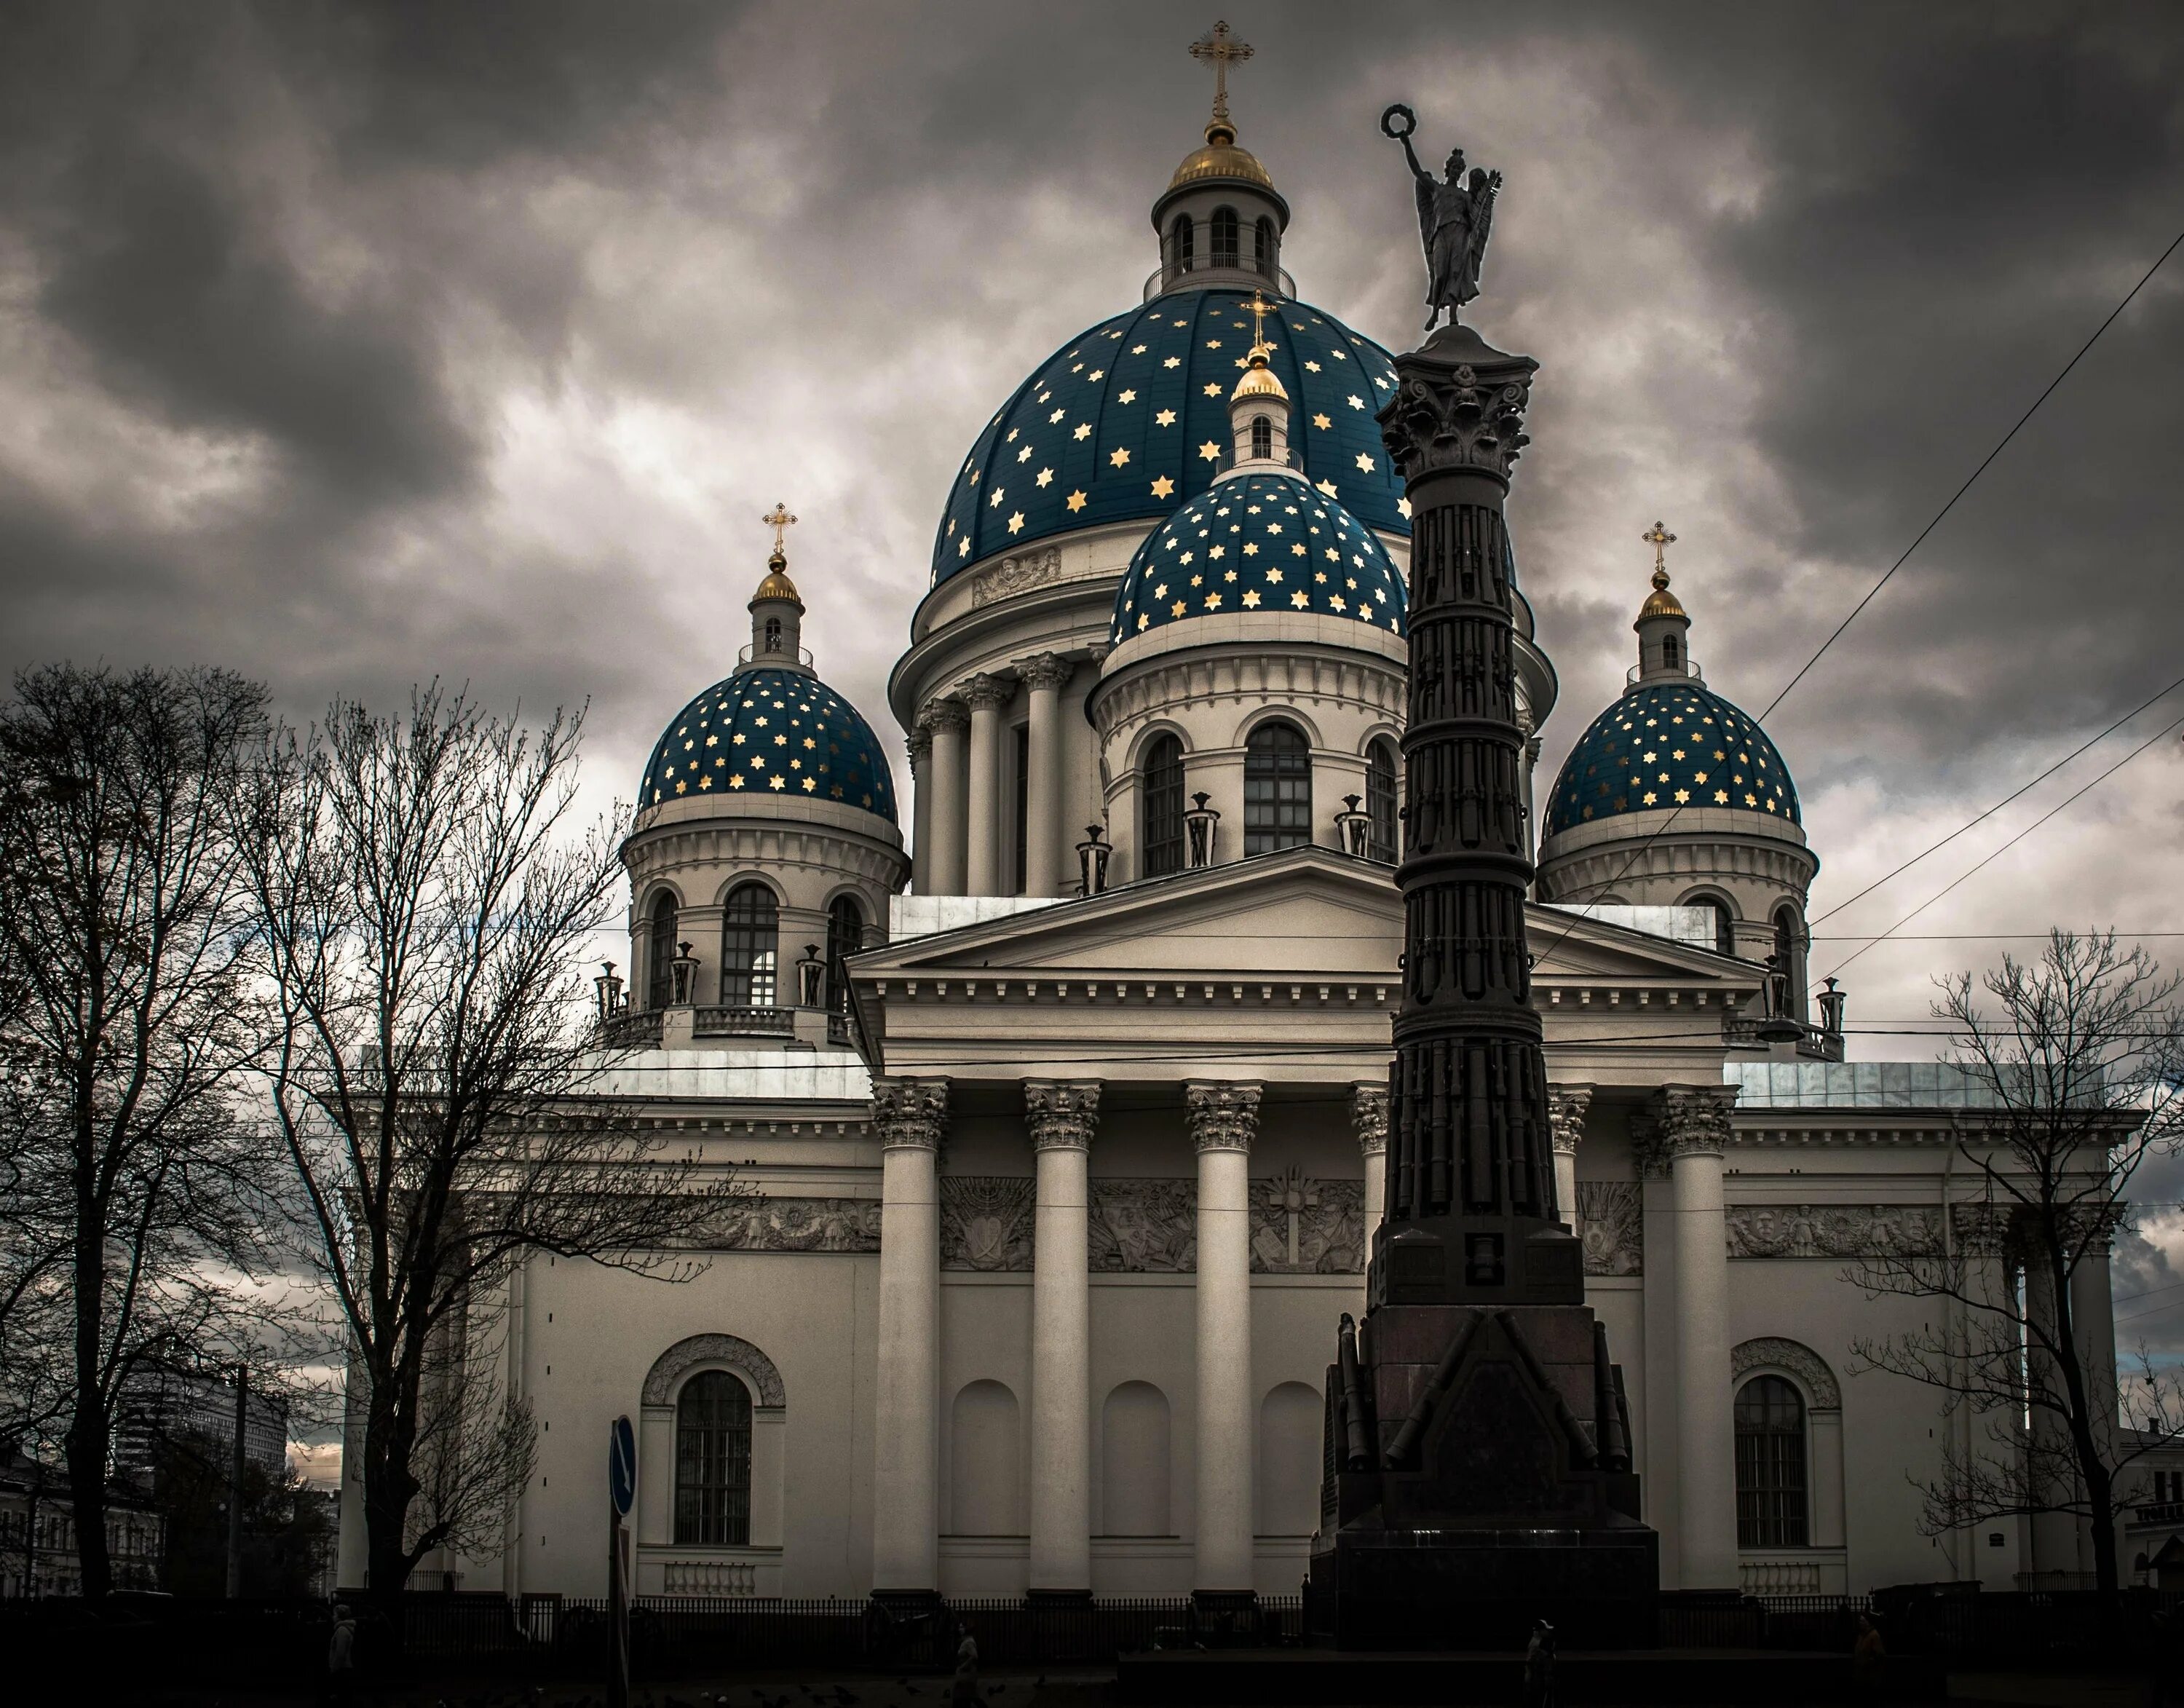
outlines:
[{"label": "leftmost white Corinthian column of the front portico", "polygon": [[948,1129],[946,1079],[882,1079],[871,1090],[880,1134],[880,1372],[874,1402],[874,1594],[939,1588],[939,1319],[941,1206],[937,1153]]}]

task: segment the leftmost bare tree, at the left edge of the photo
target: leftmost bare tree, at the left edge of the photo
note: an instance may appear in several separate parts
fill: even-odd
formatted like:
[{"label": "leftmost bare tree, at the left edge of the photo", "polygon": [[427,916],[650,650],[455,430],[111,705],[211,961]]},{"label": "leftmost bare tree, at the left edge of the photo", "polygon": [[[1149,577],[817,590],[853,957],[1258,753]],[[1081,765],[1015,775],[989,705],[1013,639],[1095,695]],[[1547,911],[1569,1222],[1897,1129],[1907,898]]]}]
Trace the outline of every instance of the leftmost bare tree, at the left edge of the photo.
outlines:
[{"label": "leftmost bare tree, at the left edge of the photo", "polygon": [[120,1409],[157,1363],[229,1356],[271,1262],[232,1107],[262,730],[264,690],[223,671],[57,664],[0,708],[0,1391],[59,1437],[87,1597]]}]

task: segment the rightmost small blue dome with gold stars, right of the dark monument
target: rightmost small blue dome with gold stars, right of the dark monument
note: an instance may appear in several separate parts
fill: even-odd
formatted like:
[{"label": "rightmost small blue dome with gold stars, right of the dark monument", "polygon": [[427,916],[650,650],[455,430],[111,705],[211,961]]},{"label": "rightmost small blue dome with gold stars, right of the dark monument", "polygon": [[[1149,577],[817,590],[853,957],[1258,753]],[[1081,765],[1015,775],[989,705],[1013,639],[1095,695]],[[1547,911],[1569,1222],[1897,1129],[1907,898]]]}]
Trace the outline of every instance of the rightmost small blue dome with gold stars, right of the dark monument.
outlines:
[{"label": "rightmost small blue dome with gold stars, right of the dark monument", "polygon": [[1797,786],[1767,732],[1690,679],[1642,684],[1592,719],[1555,778],[1546,834],[1677,806],[1800,823]]}]

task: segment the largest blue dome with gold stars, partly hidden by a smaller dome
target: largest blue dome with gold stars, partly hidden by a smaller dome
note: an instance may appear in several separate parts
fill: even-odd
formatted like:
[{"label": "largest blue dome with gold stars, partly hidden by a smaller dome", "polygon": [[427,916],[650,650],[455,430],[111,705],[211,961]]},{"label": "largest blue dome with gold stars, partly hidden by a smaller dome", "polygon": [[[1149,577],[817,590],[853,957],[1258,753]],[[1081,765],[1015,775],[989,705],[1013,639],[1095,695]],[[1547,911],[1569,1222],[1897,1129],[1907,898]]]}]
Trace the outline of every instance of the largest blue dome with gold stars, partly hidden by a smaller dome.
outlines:
[{"label": "largest blue dome with gold stars, partly hidden by a smaller dome", "polygon": [[[1171,290],[1061,345],[987,422],[957,470],[933,581],[1046,535],[1158,520],[1203,494],[1230,454],[1230,391],[1251,347],[1247,290]],[[1358,522],[1409,537],[1402,478],[1374,419],[1387,352],[1310,304],[1267,319],[1291,398],[1291,450]]]}]

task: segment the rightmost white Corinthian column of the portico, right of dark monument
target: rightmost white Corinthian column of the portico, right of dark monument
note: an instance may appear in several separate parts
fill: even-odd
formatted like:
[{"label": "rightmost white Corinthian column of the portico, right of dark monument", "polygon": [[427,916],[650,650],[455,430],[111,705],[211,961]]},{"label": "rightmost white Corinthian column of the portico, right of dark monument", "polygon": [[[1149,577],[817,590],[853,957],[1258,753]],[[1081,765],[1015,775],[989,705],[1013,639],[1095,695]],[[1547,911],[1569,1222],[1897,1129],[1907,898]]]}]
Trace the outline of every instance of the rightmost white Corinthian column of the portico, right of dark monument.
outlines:
[{"label": "rightmost white Corinthian column of the portico, right of dark monument", "polygon": [[1721,1153],[1728,1086],[1662,1086],[1655,1142],[1675,1219],[1675,1514],[1679,1588],[1736,1588],[1736,1422],[1730,1393],[1730,1232]]}]

